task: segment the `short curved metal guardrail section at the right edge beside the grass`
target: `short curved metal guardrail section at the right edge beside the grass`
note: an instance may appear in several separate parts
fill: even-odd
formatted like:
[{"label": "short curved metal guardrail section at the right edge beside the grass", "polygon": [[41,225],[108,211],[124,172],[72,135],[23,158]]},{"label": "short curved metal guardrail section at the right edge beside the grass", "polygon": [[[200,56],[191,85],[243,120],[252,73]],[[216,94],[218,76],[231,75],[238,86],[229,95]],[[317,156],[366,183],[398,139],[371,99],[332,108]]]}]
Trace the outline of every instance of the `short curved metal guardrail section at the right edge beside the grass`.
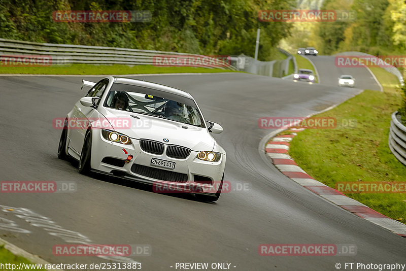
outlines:
[{"label": "short curved metal guardrail section at the right edge beside the grass", "polygon": [[400,123],[397,111],[393,112],[389,128],[389,149],[393,155],[406,165],[406,127]]}]

